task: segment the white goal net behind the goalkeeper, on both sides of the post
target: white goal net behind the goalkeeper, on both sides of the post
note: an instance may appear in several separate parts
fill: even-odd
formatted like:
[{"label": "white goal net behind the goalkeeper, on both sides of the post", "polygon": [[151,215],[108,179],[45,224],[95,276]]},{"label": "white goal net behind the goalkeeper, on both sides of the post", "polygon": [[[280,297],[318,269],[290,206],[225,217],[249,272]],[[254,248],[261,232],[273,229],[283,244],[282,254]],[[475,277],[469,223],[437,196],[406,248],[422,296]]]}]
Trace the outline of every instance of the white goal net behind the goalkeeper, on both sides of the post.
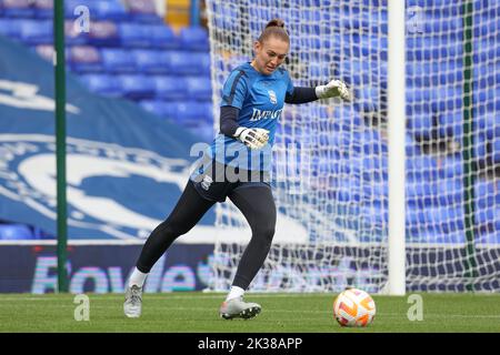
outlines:
[{"label": "white goal net behind the goalkeeper, on both sides of the post", "polygon": [[[473,1],[468,105],[466,8],[441,0],[406,6],[407,290],[498,291],[500,4]],[[250,290],[382,292],[390,217],[387,0],[207,0],[207,14],[216,106],[230,71],[252,59],[252,43],[272,18],[290,33],[283,65],[296,87],[339,78],[354,93],[348,104],[286,105],[273,146],[277,231]],[[232,203],[216,211],[221,237],[210,288],[226,291],[251,231]]]}]

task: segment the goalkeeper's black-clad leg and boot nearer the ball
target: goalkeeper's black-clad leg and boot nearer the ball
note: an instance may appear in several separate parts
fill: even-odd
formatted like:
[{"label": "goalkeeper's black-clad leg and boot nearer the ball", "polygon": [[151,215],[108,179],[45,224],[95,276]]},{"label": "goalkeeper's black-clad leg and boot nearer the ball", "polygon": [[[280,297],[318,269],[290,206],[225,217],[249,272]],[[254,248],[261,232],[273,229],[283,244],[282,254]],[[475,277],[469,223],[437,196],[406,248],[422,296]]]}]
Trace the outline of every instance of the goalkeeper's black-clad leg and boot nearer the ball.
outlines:
[{"label": "goalkeeper's black-clad leg and boot nearer the ball", "polygon": [[243,293],[259,272],[271,247],[276,227],[276,204],[269,185],[243,185],[229,199],[243,213],[252,237],[238,264],[228,297],[220,307],[223,318],[251,318],[260,313],[260,305],[243,301]]}]

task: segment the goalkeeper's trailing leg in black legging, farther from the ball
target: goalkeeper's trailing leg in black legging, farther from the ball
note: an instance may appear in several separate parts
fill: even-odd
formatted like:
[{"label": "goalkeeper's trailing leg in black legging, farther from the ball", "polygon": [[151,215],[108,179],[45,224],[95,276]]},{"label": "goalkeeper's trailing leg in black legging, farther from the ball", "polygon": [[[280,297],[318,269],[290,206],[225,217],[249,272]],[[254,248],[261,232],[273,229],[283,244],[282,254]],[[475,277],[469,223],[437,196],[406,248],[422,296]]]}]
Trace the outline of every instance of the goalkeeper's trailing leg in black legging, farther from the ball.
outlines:
[{"label": "goalkeeper's trailing leg in black legging, farther from the ball", "polygon": [[148,273],[169,248],[173,241],[188,233],[216,202],[203,199],[188,182],[182,195],[169,217],[160,223],[144,243],[136,270],[126,287],[123,313],[139,317],[142,311],[142,287]]}]

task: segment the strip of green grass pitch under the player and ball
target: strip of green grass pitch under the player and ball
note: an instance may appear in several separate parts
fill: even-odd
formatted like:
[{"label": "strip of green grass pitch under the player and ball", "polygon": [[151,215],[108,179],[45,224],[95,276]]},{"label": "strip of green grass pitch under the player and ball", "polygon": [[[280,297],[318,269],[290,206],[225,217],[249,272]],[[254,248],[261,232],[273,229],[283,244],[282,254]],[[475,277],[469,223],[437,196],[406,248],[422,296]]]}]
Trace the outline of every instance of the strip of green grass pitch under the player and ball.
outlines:
[{"label": "strip of green grass pitch under the player and ball", "polygon": [[72,294],[0,295],[0,332],[98,333],[500,333],[500,294],[419,294],[423,320],[409,321],[407,296],[373,296],[377,315],[366,328],[342,328],[332,316],[333,294],[251,294],[262,305],[253,320],[226,321],[223,294],[144,294],[140,318],[122,313],[121,294],[87,294],[89,321],[77,321]]}]

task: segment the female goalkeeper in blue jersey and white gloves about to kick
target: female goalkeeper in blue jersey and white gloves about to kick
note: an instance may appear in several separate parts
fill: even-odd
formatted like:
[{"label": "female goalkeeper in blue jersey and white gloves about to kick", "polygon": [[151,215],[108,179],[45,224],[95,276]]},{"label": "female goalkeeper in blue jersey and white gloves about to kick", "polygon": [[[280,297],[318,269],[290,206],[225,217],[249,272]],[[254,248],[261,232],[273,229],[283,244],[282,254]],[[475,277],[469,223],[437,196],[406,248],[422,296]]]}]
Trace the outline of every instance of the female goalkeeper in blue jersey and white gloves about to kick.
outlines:
[{"label": "female goalkeeper in blue jersey and white gloves about to kick", "polygon": [[172,242],[190,231],[216,203],[229,197],[250,224],[247,245],[219,313],[223,318],[256,316],[261,307],[243,301],[244,291],[262,266],[276,226],[276,205],[269,184],[271,146],[286,103],[339,97],[350,100],[347,85],[332,80],[316,88],[294,88],[280,65],[290,38],[280,19],[269,21],[253,44],[254,58],[227,79],[220,108],[220,133],[196,169],[168,219],[147,240],[126,291],[124,314],[141,314],[142,285]]}]

